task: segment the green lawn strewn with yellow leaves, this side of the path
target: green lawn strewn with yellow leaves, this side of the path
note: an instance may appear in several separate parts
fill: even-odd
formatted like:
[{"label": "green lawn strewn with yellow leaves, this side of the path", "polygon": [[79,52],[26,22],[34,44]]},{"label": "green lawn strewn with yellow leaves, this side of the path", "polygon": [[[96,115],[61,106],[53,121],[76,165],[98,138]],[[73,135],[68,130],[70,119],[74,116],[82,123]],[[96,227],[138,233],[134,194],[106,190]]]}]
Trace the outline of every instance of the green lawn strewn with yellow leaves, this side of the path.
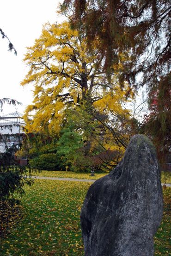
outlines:
[{"label": "green lawn strewn with yellow leaves, this side of the path", "polygon": [[[0,255],[84,256],[79,214],[90,185],[35,180],[32,187],[25,186],[23,218],[12,219],[12,229],[1,239]],[[171,188],[164,190],[164,216],[155,236],[155,256],[169,256],[169,193]]]}]

